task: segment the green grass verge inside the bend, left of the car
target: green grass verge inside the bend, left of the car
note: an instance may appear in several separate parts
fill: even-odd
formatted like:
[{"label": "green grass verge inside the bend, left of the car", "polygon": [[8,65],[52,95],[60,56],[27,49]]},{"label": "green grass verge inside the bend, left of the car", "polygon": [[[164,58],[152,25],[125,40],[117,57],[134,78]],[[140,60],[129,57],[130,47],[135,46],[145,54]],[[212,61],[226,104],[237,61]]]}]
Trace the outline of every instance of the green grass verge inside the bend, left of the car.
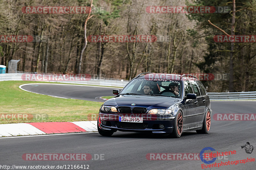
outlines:
[{"label": "green grass verge inside the bend, left of the car", "polygon": [[[19,88],[20,85],[27,83],[55,82],[1,81],[0,124],[87,121],[87,115],[98,114],[99,108],[103,104],[103,102],[55,98],[26,92]],[[37,114],[37,119],[34,116],[33,120],[29,120],[29,118],[28,120],[6,120],[10,116],[6,117],[3,114]]]}]

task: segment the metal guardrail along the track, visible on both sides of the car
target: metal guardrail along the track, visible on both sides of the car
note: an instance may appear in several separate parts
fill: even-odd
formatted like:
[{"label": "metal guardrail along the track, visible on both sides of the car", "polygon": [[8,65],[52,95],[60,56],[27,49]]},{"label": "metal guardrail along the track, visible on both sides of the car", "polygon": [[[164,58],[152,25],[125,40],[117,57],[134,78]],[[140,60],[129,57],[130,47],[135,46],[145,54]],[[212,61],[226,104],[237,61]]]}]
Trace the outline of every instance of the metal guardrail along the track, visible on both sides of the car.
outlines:
[{"label": "metal guardrail along the track, visible on both sides of the car", "polygon": [[[22,81],[23,73],[7,73],[0,74],[0,81]],[[121,80],[104,80],[90,79],[87,81],[46,81],[84,85],[102,85],[112,87],[124,87],[129,81]],[[223,92],[223,93],[208,93],[211,100],[256,100],[256,92]]]}]

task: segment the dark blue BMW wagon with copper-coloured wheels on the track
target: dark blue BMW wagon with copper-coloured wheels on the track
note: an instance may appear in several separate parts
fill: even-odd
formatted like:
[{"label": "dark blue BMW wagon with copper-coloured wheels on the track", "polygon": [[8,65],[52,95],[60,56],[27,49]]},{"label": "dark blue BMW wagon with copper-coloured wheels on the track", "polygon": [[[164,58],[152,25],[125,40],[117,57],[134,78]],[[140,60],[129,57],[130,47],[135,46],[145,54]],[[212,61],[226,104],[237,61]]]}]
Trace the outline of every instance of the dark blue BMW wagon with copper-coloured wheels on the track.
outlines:
[{"label": "dark blue BMW wagon with copper-coloured wheels on the track", "polygon": [[117,96],[100,107],[100,135],[111,136],[118,130],[178,138],[182,132],[207,134],[210,130],[210,99],[195,76],[141,73],[113,94]]}]

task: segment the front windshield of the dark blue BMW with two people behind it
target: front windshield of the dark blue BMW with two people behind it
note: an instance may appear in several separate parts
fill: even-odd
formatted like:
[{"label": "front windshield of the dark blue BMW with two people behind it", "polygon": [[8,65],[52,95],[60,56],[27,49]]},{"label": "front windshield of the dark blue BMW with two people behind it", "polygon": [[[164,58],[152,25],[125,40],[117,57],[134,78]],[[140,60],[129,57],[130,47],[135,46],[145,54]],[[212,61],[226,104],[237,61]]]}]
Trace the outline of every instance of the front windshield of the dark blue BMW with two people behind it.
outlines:
[{"label": "front windshield of the dark blue BMW with two people behind it", "polygon": [[133,79],[120,94],[156,95],[181,98],[181,81],[166,79]]}]

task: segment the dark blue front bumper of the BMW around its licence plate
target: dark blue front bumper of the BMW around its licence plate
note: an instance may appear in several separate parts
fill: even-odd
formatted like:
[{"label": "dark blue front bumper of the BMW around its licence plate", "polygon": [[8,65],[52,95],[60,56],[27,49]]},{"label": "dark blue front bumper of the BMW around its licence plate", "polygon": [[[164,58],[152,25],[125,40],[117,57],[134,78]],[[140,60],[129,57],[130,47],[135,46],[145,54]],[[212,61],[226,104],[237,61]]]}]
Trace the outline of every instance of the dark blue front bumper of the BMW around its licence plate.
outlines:
[{"label": "dark blue front bumper of the BMW around its licence plate", "polygon": [[[143,123],[119,122],[119,116],[143,117]],[[108,114],[99,113],[99,127],[102,130],[118,130],[123,132],[149,132],[149,133],[172,133],[175,116],[161,116],[148,114]],[[101,124],[106,121],[105,125]],[[159,128],[159,125],[164,128]]]}]

